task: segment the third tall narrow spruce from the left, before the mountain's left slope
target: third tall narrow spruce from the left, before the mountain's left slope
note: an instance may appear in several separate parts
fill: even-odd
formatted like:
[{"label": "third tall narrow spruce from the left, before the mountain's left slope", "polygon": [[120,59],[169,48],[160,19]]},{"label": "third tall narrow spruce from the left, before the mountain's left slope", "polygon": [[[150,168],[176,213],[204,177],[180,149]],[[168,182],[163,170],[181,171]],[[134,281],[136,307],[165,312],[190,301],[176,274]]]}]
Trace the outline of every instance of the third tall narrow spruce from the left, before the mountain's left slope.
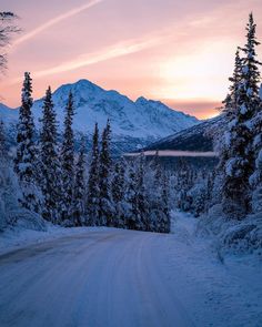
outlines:
[{"label": "third tall narrow spruce from the left, before the mountain's left slope", "polygon": [[64,131],[61,147],[61,221],[66,226],[73,225],[72,201],[73,201],[73,182],[74,182],[74,141],[73,141],[73,95],[70,91],[66,106]]}]

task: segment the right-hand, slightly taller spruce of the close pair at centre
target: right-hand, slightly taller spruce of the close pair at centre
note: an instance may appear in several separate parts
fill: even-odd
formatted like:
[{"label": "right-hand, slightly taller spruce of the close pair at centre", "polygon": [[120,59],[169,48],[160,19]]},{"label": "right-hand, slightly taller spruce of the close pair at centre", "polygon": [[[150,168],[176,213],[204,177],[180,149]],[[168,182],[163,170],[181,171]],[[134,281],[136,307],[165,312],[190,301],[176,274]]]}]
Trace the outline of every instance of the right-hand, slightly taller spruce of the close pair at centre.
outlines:
[{"label": "right-hand, slightly taller spruce of the close pair at centre", "polygon": [[100,225],[113,226],[113,207],[110,194],[111,154],[110,154],[111,126],[108,120],[102,133],[101,152],[99,156],[99,221]]}]

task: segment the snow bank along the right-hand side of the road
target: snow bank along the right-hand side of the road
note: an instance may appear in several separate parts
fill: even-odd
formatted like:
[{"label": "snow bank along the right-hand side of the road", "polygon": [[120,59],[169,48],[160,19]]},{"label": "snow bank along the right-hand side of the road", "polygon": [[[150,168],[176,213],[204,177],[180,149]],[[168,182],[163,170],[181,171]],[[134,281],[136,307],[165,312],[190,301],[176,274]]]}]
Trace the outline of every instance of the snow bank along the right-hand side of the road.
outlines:
[{"label": "snow bank along the right-hand side of the road", "polygon": [[[222,235],[223,217],[212,210],[213,219],[203,229],[202,219],[173,212],[173,238],[169,260],[173,267],[170,278],[175,284],[175,296],[191,311],[194,326],[259,327],[262,326],[262,262],[253,254],[218,252],[215,233]],[[219,222],[220,219],[220,222]],[[235,226],[238,224],[235,223]],[[239,248],[238,248],[239,251]],[[168,270],[168,267],[167,267]],[[192,296],[193,295],[193,296]]]}]

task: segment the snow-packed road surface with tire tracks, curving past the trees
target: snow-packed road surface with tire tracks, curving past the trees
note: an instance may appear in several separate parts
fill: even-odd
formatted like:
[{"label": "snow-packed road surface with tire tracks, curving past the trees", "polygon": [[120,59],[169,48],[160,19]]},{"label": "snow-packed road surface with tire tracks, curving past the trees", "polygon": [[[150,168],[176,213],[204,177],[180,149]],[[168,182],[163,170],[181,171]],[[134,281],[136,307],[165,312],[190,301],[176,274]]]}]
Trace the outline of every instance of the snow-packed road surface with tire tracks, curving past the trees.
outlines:
[{"label": "snow-packed road surface with tire tracks, curving past the trees", "polygon": [[2,255],[0,326],[193,326],[162,264],[169,237],[108,229]]}]

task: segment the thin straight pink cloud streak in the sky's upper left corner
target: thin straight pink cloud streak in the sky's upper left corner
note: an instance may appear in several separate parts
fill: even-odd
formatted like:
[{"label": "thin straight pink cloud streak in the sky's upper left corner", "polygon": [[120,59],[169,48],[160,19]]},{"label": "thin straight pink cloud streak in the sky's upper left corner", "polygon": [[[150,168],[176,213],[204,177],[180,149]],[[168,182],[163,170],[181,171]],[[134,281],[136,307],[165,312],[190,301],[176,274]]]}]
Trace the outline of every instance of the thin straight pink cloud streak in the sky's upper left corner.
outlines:
[{"label": "thin straight pink cloud streak in the sky's upper left corner", "polygon": [[73,17],[84,10],[88,10],[90,8],[92,8],[93,6],[102,2],[104,0],[91,0],[89,1],[88,3],[83,4],[83,6],[80,6],[80,7],[77,7],[72,10],[69,10],[49,21],[47,21],[46,23],[43,23],[42,25],[36,28],[34,30],[32,30],[31,32],[28,32],[27,34],[22,35],[21,38],[19,38],[12,45],[12,50],[14,50],[18,45],[20,45],[21,43],[37,37],[39,33],[48,30],[49,28],[53,27],[54,24],[70,18],[70,17]]}]

